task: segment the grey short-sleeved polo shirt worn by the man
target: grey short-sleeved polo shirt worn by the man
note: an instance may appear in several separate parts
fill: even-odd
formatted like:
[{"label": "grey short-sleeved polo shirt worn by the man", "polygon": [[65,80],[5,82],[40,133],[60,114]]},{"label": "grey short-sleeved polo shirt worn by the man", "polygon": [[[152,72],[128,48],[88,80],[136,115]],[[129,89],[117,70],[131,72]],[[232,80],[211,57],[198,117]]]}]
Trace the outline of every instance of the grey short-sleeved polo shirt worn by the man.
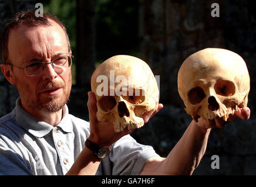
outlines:
[{"label": "grey short-sleeved polo shirt worn by the man", "polygon": [[[89,123],[63,108],[56,127],[29,115],[16,101],[11,113],[0,118],[0,175],[65,175],[89,136]],[[97,175],[138,175],[146,161],[157,156],[150,146],[130,135],[111,147]]]}]

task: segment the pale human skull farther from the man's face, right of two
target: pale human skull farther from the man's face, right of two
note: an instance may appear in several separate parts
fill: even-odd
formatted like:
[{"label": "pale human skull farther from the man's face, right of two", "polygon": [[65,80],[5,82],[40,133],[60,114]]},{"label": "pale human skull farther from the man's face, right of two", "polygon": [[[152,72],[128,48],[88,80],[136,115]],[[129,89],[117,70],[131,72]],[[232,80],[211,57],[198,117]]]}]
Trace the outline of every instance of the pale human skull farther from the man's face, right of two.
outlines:
[{"label": "pale human skull farther from the man's face, right of two", "polygon": [[178,93],[194,120],[228,115],[247,106],[250,76],[244,60],[225,49],[208,48],[189,56],[178,71]]}]

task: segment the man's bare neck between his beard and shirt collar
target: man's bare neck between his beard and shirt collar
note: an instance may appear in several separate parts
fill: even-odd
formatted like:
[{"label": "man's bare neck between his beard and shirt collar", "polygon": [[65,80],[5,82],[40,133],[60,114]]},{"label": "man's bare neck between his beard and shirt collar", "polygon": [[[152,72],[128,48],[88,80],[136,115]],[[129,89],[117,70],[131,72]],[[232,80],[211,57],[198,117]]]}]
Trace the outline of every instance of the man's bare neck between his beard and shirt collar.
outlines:
[{"label": "man's bare neck between his beard and shirt collar", "polygon": [[31,108],[30,106],[23,105],[22,102],[21,106],[24,110],[26,110],[26,112],[28,112],[36,119],[42,122],[46,122],[53,127],[55,127],[60,122],[60,120],[62,120],[63,108],[58,110],[57,112],[46,112],[45,110],[38,110],[35,108]]}]

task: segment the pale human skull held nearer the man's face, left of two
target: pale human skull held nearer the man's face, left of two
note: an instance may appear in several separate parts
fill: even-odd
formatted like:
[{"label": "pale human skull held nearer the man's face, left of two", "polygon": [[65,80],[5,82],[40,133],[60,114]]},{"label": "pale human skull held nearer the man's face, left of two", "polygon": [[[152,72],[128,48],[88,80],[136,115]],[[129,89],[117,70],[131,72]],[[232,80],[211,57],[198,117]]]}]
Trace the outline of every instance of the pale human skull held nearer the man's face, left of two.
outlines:
[{"label": "pale human skull held nearer the man's face, left of two", "polygon": [[149,65],[139,58],[113,56],[96,68],[91,79],[97,120],[113,122],[114,131],[144,125],[144,112],[156,110],[159,89]]}]

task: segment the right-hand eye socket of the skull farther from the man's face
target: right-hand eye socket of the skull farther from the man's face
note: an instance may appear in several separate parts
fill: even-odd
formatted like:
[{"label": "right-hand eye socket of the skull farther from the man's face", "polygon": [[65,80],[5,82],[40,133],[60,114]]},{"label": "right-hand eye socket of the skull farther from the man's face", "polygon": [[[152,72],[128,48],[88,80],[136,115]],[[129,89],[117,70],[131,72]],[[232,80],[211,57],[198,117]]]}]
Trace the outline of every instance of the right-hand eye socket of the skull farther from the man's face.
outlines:
[{"label": "right-hand eye socket of the skull farther from the man's face", "polygon": [[235,94],[235,85],[231,81],[219,79],[214,85],[215,92],[222,96],[232,96]]}]

